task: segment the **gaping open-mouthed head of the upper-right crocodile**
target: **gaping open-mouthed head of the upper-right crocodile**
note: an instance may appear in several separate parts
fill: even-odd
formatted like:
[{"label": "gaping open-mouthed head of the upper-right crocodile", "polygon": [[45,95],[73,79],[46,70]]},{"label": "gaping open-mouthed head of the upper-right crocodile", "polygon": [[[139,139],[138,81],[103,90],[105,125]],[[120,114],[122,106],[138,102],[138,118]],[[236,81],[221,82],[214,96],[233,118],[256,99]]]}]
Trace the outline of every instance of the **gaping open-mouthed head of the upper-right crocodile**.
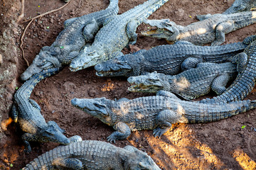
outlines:
[{"label": "gaping open-mouthed head of the upper-right crocodile", "polygon": [[162,20],[146,20],[144,23],[148,23],[152,28],[149,31],[142,32],[142,35],[153,38],[164,38],[170,43],[176,42],[177,36],[180,33],[176,23],[169,21],[169,19]]}]

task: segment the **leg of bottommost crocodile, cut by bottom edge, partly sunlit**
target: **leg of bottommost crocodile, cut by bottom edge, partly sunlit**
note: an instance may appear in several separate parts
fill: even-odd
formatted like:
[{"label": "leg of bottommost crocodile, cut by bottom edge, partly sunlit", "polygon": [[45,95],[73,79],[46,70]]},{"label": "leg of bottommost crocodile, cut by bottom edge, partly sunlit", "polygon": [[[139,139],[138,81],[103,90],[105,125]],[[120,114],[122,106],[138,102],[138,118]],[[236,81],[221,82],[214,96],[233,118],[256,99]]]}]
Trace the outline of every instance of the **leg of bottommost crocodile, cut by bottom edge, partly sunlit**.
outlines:
[{"label": "leg of bottommost crocodile, cut by bottom edge, partly sunlit", "polygon": [[82,162],[75,158],[56,159],[53,166],[58,169],[83,169]]}]

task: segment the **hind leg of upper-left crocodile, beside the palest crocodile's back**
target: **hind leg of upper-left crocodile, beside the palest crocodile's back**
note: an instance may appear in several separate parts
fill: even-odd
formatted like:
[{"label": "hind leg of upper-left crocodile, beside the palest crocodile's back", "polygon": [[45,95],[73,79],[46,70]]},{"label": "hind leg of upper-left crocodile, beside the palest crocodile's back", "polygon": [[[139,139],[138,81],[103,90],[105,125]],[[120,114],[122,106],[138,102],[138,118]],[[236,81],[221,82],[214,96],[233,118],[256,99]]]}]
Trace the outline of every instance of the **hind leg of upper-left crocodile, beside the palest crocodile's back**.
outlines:
[{"label": "hind leg of upper-left crocodile, beside the palest crocodile's back", "polygon": [[98,26],[97,21],[95,20],[95,18],[92,18],[92,20],[89,21],[89,23],[87,23],[87,25],[83,29],[85,42],[92,42],[95,37],[95,34],[99,29],[100,27]]}]

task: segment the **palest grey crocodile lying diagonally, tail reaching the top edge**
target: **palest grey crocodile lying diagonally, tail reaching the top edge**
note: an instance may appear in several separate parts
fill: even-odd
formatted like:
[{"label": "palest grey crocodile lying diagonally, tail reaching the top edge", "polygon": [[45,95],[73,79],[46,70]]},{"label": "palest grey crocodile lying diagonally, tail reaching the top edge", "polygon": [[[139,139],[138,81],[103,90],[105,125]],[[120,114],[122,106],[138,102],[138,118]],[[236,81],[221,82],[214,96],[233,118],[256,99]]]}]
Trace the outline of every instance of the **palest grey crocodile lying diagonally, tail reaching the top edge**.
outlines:
[{"label": "palest grey crocodile lying diagonally, tail reaching the top edge", "polygon": [[79,56],[71,62],[70,70],[76,72],[123,55],[121,50],[137,41],[135,32],[139,24],[167,1],[148,0],[121,15],[113,16],[95,35],[92,45],[81,50]]}]

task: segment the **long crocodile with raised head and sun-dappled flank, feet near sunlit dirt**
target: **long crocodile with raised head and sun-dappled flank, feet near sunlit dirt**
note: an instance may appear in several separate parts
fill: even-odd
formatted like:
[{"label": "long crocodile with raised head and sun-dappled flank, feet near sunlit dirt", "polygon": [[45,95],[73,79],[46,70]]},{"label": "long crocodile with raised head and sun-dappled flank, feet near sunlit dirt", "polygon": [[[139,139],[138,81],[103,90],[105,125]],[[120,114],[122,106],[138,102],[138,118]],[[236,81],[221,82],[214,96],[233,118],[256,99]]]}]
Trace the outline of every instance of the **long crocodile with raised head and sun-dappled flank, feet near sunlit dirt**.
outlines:
[{"label": "long crocodile with raised head and sun-dappled flank, feet near sunlit dirt", "polygon": [[109,142],[126,139],[131,130],[154,130],[153,135],[161,137],[174,123],[208,123],[256,107],[256,101],[250,100],[223,104],[183,101],[169,91],[132,100],[73,98],[71,104],[117,130],[107,137]]}]

